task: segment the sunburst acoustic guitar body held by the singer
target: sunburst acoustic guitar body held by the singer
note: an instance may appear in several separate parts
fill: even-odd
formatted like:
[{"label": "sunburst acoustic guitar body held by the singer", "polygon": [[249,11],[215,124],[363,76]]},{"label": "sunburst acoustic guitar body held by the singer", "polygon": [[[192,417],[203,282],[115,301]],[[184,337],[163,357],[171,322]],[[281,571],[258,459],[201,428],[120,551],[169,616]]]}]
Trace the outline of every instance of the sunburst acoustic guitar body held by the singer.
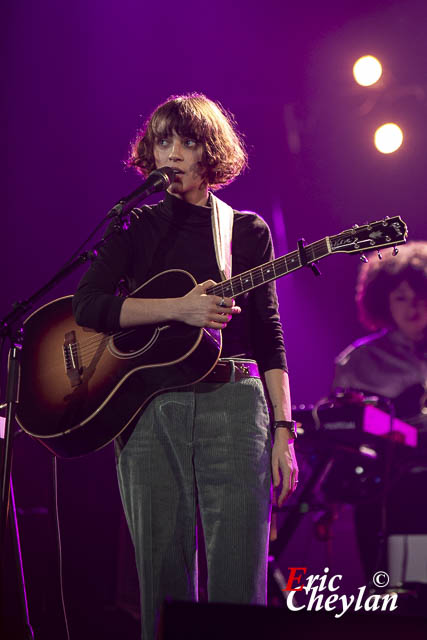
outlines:
[{"label": "sunburst acoustic guitar body held by the singer", "polygon": [[[132,297],[178,297],[195,284],[164,271]],[[71,305],[72,296],[54,300],[24,324],[17,420],[56,455],[103,447],[156,394],[203,379],[219,359],[221,331],[171,322],[108,336],[79,327]]]}]

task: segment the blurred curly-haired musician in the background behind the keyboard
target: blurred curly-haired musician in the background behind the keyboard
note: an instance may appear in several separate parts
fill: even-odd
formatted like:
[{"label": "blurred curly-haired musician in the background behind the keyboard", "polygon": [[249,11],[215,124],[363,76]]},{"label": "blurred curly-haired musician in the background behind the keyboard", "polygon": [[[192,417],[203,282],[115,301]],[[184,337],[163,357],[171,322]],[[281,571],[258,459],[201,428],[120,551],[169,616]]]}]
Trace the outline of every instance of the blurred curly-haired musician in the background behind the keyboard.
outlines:
[{"label": "blurred curly-haired musician in the background behind the keyboard", "polygon": [[383,478],[386,493],[356,505],[356,535],[369,580],[384,568],[381,541],[387,536],[427,534],[427,514],[420,508],[427,492],[427,242],[410,242],[397,256],[384,252],[382,260],[363,264],[356,303],[360,321],[375,333],[338,356],[333,389],[390,399],[395,415],[417,427],[419,446],[415,467],[393,458],[392,472]]}]

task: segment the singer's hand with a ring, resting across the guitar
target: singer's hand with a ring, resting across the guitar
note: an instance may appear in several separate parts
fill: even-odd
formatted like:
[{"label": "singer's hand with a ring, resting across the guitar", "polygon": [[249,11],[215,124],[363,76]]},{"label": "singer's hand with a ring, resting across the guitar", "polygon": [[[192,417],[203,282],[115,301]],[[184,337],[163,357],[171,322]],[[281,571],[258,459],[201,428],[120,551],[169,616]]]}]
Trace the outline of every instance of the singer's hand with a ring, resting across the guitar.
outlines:
[{"label": "singer's hand with a ring, resting across the guitar", "polygon": [[207,295],[206,290],[215,284],[213,280],[206,280],[178,298],[176,320],[193,327],[225,329],[233,315],[241,312],[241,308],[235,306],[233,298]]}]

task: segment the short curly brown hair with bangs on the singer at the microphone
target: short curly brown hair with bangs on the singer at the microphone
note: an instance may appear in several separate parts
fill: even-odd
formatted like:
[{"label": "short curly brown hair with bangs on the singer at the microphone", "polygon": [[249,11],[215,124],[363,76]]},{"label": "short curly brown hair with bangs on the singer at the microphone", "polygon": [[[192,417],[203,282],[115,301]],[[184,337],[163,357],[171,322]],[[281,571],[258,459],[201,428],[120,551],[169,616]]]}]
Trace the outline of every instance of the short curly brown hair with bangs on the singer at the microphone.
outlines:
[{"label": "short curly brown hair with bangs on the singer at the microphone", "polygon": [[247,166],[247,153],[234,116],[202,93],[171,96],[157,107],[132,143],[128,166],[147,176],[156,168],[156,141],[175,132],[203,145],[201,176],[211,189],[232,182]]}]

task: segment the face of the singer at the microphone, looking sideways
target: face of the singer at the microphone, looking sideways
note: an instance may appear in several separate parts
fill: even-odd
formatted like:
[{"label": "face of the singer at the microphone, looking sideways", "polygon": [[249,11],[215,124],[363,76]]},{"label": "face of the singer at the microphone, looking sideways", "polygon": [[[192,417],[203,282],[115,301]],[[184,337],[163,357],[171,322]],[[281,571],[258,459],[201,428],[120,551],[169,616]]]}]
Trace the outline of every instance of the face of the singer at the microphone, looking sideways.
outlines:
[{"label": "face of the singer at the microphone, looking sideways", "polygon": [[191,204],[206,204],[208,185],[201,176],[203,146],[192,138],[172,135],[154,143],[156,168],[172,167],[177,173],[168,191]]}]

